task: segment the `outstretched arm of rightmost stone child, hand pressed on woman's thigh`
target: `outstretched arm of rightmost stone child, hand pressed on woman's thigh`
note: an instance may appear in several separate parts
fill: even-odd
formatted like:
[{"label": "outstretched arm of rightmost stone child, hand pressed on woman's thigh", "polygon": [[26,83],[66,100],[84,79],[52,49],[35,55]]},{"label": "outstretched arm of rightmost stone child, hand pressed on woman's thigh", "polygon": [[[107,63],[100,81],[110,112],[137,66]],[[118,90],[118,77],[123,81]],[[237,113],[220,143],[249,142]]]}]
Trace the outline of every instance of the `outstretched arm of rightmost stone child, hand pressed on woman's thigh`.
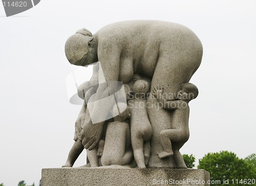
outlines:
[{"label": "outstretched arm of rightmost stone child, hand pressed on woman's thigh", "polygon": [[163,106],[164,109],[167,109],[167,110],[179,109],[179,106],[181,104],[180,101],[179,100],[167,101],[163,97],[163,90],[162,90],[162,88],[160,88],[159,86],[155,86],[153,88],[153,92],[154,92],[154,96],[157,98],[158,102],[162,103],[162,106]]}]

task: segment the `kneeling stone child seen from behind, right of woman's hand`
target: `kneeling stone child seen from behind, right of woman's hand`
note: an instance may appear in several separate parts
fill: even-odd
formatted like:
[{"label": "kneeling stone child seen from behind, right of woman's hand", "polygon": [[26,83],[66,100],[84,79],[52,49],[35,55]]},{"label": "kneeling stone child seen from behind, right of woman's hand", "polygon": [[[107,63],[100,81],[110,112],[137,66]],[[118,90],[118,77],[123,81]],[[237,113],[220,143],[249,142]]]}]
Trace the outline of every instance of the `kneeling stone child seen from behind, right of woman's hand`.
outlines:
[{"label": "kneeling stone child seen from behind, right of woman's hand", "polygon": [[[106,123],[105,126],[105,144],[101,156],[101,165],[129,165],[133,160],[133,151],[131,148],[131,136],[129,123],[130,113],[126,103],[118,103],[119,108],[114,106],[113,112],[119,113],[119,109],[126,109],[114,117],[113,122]],[[122,109],[122,110],[123,110]]]}]

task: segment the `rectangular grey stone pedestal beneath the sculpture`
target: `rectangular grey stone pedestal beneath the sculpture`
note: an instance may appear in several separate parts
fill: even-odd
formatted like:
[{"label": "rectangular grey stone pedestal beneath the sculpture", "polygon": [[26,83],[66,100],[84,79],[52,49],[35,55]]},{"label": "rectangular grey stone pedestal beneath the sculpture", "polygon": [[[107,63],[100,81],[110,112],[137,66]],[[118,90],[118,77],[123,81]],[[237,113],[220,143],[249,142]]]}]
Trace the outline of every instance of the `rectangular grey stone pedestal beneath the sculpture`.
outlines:
[{"label": "rectangular grey stone pedestal beneath the sculpture", "polygon": [[210,185],[202,169],[58,168],[42,169],[42,186]]}]

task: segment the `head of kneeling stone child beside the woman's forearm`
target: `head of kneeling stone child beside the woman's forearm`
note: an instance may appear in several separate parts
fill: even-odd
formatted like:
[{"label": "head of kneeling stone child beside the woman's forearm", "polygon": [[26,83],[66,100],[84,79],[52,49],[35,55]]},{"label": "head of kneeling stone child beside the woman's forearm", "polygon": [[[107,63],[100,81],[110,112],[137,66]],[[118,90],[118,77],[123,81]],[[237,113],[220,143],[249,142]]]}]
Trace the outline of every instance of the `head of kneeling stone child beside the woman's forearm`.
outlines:
[{"label": "head of kneeling stone child beside the woman's forearm", "polygon": [[114,121],[123,122],[130,117],[129,107],[126,103],[118,103],[117,105],[118,107],[115,105],[112,110],[112,113],[116,115]]}]

